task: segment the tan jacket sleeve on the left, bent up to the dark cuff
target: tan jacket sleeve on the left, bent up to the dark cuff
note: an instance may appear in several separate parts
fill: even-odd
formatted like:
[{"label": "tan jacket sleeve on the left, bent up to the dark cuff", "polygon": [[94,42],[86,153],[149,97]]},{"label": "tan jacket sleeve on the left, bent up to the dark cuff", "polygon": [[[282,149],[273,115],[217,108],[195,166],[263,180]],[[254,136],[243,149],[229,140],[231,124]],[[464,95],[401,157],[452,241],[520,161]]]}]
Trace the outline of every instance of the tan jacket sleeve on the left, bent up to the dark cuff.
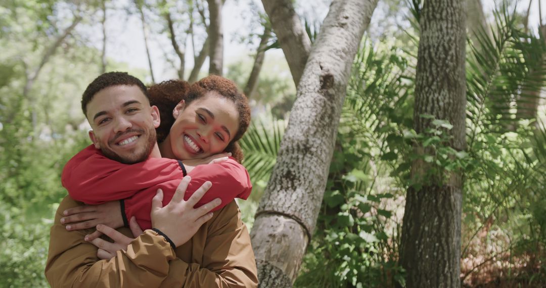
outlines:
[{"label": "tan jacket sleeve on the left, bent up to the dark cuff", "polygon": [[67,231],[60,224],[62,211],[74,206],[78,203],[65,197],[51,227],[45,275],[52,287],[157,287],[176,277],[170,266],[180,260],[165,238],[152,230],[137,237],[127,251],[99,260],[97,248],[83,238],[92,230]]}]

